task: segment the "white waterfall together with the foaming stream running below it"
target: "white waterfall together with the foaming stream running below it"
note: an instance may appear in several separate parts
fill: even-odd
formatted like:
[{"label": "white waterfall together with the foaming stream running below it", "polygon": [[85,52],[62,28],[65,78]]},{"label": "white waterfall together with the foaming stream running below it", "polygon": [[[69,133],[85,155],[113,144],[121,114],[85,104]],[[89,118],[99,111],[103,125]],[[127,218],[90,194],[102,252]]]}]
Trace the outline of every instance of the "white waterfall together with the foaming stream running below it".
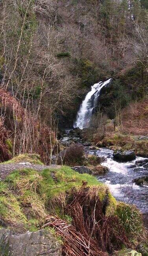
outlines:
[{"label": "white waterfall together with the foaming stream running below it", "polygon": [[[100,82],[91,87],[91,90],[85,96],[80,109],[78,111],[74,127],[83,129],[90,126],[92,111],[95,108],[100,91],[103,87],[110,85],[111,79]],[[70,143],[68,133],[63,138],[63,143]],[[75,143],[80,142],[80,138],[73,137]],[[109,171],[105,175],[100,175],[97,179],[109,187],[112,195],[120,201],[135,204],[144,213],[148,222],[148,186],[137,186],[133,179],[142,176],[148,176],[148,168],[138,166],[136,161],[144,160],[145,158],[136,157],[136,160],[131,162],[117,162],[113,159],[113,151],[107,148],[99,150],[91,150],[85,147],[86,154],[95,154],[97,156],[105,156],[106,162],[102,165],[107,166]],[[146,224],[148,226],[148,223]]]}]

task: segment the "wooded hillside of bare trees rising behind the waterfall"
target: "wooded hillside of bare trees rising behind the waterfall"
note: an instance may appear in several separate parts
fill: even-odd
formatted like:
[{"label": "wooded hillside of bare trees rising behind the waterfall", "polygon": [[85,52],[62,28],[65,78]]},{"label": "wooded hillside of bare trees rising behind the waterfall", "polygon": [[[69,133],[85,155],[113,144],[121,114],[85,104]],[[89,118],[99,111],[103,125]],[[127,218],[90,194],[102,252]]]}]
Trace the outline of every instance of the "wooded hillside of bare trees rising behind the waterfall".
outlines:
[{"label": "wooded hillside of bare trees rising behind the waterfall", "polygon": [[0,15],[1,86],[48,123],[72,125],[90,86],[109,77],[101,105],[112,118],[111,104],[146,96],[146,0],[4,0]]}]

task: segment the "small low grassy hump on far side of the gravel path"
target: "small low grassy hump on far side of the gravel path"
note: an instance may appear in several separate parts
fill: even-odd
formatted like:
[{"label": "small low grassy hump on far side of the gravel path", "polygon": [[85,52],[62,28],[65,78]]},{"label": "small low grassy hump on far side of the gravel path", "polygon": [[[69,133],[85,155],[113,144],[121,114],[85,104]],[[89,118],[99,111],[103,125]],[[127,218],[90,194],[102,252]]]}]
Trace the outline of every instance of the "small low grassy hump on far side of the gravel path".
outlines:
[{"label": "small low grassy hump on far side of the gravel path", "polygon": [[20,162],[30,162],[32,164],[44,165],[41,162],[41,157],[39,156],[39,154],[19,154],[18,156],[13,157],[11,160],[3,162],[3,164],[14,164]]}]

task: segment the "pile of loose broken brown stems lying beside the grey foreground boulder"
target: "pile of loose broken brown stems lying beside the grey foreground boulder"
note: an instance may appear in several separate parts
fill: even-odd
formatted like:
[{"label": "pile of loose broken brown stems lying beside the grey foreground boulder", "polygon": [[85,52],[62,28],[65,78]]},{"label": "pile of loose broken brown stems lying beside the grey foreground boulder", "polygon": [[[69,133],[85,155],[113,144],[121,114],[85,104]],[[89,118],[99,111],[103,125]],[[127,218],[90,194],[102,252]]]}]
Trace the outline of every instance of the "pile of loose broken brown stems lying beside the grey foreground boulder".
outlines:
[{"label": "pile of loose broken brown stems lying beside the grey foreground boulder", "polygon": [[55,232],[64,240],[63,251],[67,256],[107,256],[106,252],[100,251],[96,241],[89,236],[77,232],[74,226],[67,224],[56,216],[49,216],[50,220],[43,227],[49,226],[55,228]]}]

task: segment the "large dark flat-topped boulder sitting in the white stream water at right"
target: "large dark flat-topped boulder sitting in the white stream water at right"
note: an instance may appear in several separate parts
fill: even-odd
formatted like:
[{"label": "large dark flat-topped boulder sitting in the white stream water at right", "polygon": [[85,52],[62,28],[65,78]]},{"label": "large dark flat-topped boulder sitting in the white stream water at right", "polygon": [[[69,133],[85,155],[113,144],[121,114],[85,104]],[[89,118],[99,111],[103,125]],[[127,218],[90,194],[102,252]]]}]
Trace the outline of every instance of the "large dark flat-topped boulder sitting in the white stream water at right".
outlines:
[{"label": "large dark flat-topped boulder sitting in the white stream water at right", "polygon": [[128,162],[136,159],[134,151],[114,151],[113,157],[120,162]]}]

